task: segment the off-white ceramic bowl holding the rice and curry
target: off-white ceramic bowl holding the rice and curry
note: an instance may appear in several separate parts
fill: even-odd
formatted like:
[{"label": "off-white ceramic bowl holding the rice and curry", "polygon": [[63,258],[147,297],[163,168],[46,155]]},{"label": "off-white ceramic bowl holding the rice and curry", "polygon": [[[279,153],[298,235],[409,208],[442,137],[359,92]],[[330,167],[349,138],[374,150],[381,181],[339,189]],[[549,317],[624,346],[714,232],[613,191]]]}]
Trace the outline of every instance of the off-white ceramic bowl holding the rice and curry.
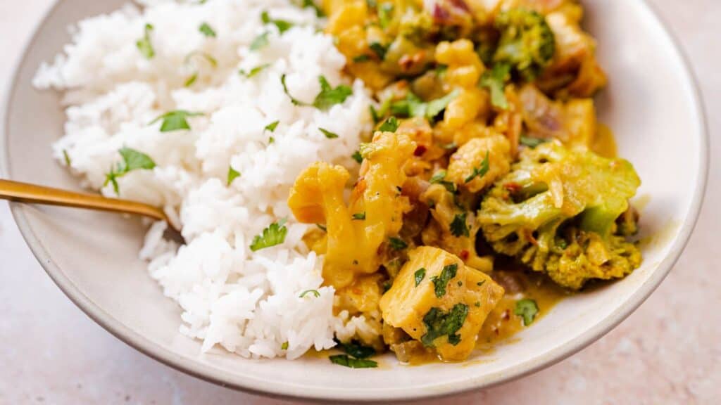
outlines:
[{"label": "off-white ceramic bowl holding the rice and curry", "polygon": [[[61,135],[58,95],[30,85],[41,61],[68,41],[66,26],[125,0],[61,0],[40,24],[17,68],[4,117],[6,177],[76,189],[50,158]],[[644,263],[632,275],[569,298],[523,331],[518,342],[461,364],[397,365],[351,370],[327,359],[246,360],[200,355],[178,333],[180,309],[164,298],[138,257],[138,221],[65,208],[12,205],[32,252],[58,286],[92,319],[124,342],[174,368],[224,386],[278,396],[390,400],[487,387],[557,362],[601,337],[663,280],[689,239],[707,176],[702,102],[681,52],[641,0],[588,0],[587,27],[611,78],[601,94],[601,122],[614,129],[620,154],[643,179],[640,199]],[[650,196],[650,200],[649,197]],[[78,342],[82,344],[82,342]]]}]

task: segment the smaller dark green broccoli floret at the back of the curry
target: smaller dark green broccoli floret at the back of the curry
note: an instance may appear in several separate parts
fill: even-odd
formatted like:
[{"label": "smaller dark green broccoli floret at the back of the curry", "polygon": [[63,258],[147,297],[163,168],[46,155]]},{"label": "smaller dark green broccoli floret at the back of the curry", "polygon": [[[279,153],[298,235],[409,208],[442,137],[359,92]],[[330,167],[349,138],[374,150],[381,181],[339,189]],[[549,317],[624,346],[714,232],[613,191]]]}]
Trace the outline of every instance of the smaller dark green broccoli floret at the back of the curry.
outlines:
[{"label": "smaller dark green broccoli floret at the back of the curry", "polygon": [[526,9],[510,9],[498,14],[495,26],[500,41],[493,60],[508,63],[526,81],[534,81],[549,65],[556,42],[546,18]]}]

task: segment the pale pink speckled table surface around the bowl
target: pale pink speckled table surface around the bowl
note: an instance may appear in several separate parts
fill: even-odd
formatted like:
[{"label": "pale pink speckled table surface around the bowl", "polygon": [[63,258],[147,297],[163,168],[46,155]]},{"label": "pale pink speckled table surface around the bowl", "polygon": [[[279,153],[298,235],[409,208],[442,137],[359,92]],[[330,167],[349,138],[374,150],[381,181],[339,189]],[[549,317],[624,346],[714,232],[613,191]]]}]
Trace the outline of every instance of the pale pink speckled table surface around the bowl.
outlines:
[{"label": "pale pink speckled table surface around the bowl", "polygon": [[[718,404],[721,399],[721,1],[650,1],[699,76],[711,173],[689,246],[663,285],[606,337],[546,370],[428,404]],[[52,0],[0,1],[0,96]],[[670,161],[669,164],[674,164]],[[37,264],[0,203],[0,404],[289,404],[205,383],[94,324]]]}]

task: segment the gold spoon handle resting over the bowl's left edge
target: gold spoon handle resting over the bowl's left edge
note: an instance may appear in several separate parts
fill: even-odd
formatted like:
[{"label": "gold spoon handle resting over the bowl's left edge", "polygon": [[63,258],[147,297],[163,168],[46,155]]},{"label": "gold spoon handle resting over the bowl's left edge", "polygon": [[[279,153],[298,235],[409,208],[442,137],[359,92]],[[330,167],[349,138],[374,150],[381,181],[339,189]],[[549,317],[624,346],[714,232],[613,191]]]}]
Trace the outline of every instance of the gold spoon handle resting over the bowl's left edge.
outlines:
[{"label": "gold spoon handle resting over the bowl's left edge", "polygon": [[87,208],[89,210],[110,211],[112,213],[142,215],[167,222],[168,231],[165,235],[166,238],[184,243],[180,235],[180,229],[175,228],[164,211],[148,204],[128,200],[116,200],[115,198],[106,198],[101,195],[58,190],[51,187],[13,182],[4,179],[0,179],[0,200],[10,200],[17,203],[61,205],[63,207]]}]

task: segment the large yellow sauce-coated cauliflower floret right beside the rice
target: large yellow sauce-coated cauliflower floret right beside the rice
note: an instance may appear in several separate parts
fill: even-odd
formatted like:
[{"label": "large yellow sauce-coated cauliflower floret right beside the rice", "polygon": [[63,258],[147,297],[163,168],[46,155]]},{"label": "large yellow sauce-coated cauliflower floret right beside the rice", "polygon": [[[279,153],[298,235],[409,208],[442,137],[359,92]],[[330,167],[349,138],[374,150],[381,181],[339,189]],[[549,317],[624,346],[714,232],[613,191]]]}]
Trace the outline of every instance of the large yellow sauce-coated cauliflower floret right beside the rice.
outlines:
[{"label": "large yellow sauce-coated cauliflower floret right beside the rice", "polygon": [[407,178],[403,165],[413,156],[415,143],[401,133],[377,132],[362,151],[361,177],[348,205],[343,198],[348,171],[322,162],[301,173],[288,197],[298,221],[326,224],[323,278],[335,288],[352,284],[356,275],[378,271],[381,244],[398,234],[403,214],[410,210],[399,190]]}]

